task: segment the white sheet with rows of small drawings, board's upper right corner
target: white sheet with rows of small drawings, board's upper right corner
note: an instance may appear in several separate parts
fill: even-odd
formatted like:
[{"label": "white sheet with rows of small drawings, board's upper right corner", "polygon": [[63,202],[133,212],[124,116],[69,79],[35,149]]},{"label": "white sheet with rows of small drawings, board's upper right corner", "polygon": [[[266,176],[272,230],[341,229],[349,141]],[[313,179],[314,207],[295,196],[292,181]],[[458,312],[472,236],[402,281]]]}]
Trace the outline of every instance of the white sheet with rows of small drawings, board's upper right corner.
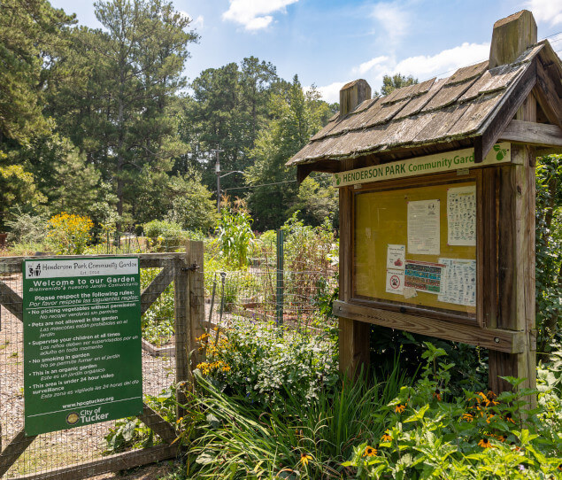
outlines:
[{"label": "white sheet with rows of small drawings, board's upper right corner", "polygon": [[476,245],[476,185],[447,190],[447,242]]}]

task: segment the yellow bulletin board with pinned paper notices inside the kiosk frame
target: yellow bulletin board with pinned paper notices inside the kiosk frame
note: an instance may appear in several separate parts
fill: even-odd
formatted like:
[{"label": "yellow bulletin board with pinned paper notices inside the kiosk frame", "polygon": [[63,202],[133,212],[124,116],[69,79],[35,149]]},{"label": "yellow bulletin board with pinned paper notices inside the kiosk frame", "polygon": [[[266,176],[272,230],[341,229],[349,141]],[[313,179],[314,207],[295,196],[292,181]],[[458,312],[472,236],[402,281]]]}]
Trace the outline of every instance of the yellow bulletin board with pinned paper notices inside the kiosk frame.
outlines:
[{"label": "yellow bulletin board with pinned paper notices inside the kiosk frame", "polygon": [[476,191],[466,179],[355,193],[353,297],[473,317]]}]

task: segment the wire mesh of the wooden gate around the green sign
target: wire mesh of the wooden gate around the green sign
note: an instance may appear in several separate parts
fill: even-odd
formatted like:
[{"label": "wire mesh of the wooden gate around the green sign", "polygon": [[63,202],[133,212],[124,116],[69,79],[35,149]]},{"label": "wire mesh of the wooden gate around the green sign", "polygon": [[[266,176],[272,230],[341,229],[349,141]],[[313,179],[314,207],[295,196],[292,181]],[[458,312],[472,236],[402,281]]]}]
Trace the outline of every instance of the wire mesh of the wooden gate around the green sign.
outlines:
[{"label": "wire mesh of the wooden gate around the green sign", "polygon": [[[174,285],[173,275],[163,274],[166,274],[166,268],[173,272],[173,261],[152,259],[149,267],[141,269],[142,290],[150,286],[153,292],[152,297],[142,298],[143,308],[157,298],[142,315],[142,392],[144,402],[172,424],[175,404],[173,400],[166,399],[172,397],[170,386],[176,380],[173,358]],[[81,478],[83,471],[80,476],[78,473],[81,464],[111,459],[116,453],[126,450],[135,452],[146,446],[163,443],[162,438],[150,433],[150,429],[138,418],[89,424],[37,437],[25,436],[24,361],[27,359],[23,353],[23,322],[20,314],[22,274],[21,267],[18,269],[13,259],[0,259],[0,288],[4,304],[0,306],[0,477],[34,477],[37,472],[57,472],[77,465],[76,476],[73,476],[71,468],[65,471],[64,476],[48,477]],[[153,422],[156,425],[158,417]],[[23,453],[18,455],[21,451]],[[126,464],[121,462],[122,466]],[[7,466],[9,468],[4,472]]]}]

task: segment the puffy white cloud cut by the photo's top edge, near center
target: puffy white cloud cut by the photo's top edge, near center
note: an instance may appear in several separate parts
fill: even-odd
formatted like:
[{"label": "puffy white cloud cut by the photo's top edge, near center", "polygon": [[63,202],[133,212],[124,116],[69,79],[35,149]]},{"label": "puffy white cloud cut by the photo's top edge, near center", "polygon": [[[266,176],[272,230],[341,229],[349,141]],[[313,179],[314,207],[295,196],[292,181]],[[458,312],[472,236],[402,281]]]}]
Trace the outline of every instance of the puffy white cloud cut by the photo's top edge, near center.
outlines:
[{"label": "puffy white cloud cut by the photo's top edge, near center", "polygon": [[272,21],[273,12],[285,12],[285,7],[298,0],[229,0],[230,7],[222,18],[243,25],[246,30],[266,28]]}]

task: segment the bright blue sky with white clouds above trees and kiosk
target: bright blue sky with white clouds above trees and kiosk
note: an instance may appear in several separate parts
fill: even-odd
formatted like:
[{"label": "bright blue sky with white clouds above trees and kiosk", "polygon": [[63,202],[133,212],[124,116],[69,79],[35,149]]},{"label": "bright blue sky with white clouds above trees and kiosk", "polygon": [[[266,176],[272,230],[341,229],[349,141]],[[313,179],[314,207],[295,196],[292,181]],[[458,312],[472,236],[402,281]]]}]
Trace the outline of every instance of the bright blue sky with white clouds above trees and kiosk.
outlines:
[{"label": "bright blue sky with white clouds above trees and kiosk", "polygon": [[[50,0],[80,23],[101,27],[90,0]],[[488,58],[497,19],[527,8],[539,40],[562,54],[560,0],[173,0],[201,36],[191,45],[185,74],[253,55],[272,62],[290,80],[316,85],[338,101],[347,81],[364,78],[379,89],[383,74],[420,81],[449,76],[459,66]]]}]

